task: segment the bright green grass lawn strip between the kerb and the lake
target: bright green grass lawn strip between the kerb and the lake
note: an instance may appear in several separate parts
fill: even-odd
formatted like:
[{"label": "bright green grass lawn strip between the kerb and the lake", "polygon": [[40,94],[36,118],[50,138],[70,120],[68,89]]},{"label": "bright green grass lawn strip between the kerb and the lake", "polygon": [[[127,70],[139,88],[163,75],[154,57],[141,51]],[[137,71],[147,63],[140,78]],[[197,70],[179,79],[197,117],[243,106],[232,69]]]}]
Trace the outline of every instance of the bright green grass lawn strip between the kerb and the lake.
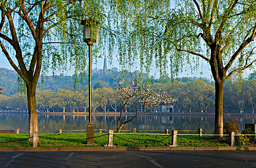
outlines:
[{"label": "bright green grass lawn strip between the kerb and the lake", "polygon": [[[104,136],[101,136],[104,135]],[[100,136],[100,137],[97,137]],[[95,146],[108,144],[107,133],[95,133]],[[0,147],[32,147],[27,139],[28,134],[0,134]],[[86,133],[39,133],[38,147],[81,147],[86,145]],[[24,139],[24,140],[22,140]],[[17,142],[7,142],[15,141]],[[130,141],[130,142],[129,142]],[[7,143],[3,143],[7,142]],[[116,146],[169,146],[171,135],[153,134],[114,134],[113,144]],[[228,146],[228,142],[213,141],[212,137],[177,136],[179,146]]]}]

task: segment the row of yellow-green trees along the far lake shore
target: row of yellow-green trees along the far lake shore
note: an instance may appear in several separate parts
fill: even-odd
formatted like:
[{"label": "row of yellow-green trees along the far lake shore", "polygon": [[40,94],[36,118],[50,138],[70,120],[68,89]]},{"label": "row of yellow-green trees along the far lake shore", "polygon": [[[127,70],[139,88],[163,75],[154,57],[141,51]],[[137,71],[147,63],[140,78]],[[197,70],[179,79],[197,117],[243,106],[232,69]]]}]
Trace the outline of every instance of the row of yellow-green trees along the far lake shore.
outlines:
[{"label": "row of yellow-green trees along the far lake shore", "polygon": [[[196,78],[181,78],[167,83],[153,83],[156,91],[169,93],[176,101],[174,112],[213,112],[214,86]],[[93,112],[119,112],[122,107],[117,91],[110,86],[94,88],[92,92]],[[249,112],[256,110],[256,79],[234,80],[224,86],[224,112]],[[0,95],[0,110],[26,111],[26,96],[16,93],[12,96]],[[88,111],[88,91],[86,90],[37,90],[37,109],[45,112],[85,112]],[[126,106],[124,111],[133,112]]]}]

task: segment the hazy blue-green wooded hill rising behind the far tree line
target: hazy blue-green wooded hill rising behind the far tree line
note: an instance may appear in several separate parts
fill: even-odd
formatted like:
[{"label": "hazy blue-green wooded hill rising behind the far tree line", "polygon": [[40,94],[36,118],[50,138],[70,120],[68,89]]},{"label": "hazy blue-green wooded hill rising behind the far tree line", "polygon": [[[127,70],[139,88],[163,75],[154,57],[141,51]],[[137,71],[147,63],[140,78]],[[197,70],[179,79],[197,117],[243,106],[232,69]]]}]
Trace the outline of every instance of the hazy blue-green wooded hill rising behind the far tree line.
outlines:
[{"label": "hazy blue-green wooded hill rising behind the far tree line", "polygon": [[[135,72],[127,72],[127,71],[118,71],[117,68],[112,68],[108,70],[107,73],[104,73],[102,69],[93,69],[92,70],[92,87],[93,89],[102,88],[102,87],[114,87],[114,78],[116,76],[125,76],[125,78],[129,79],[131,76],[138,76],[140,74],[139,71]],[[142,78],[146,81],[147,75],[142,73]],[[88,85],[87,74],[85,74],[85,78],[82,83],[81,80],[78,79],[78,84],[76,84],[77,90],[85,90]],[[166,81],[167,79],[167,81]],[[166,79],[154,79],[150,78],[150,83],[169,83],[172,80],[167,76]],[[203,80],[207,84],[214,84],[213,81],[207,78],[197,78],[197,77],[183,77],[176,78],[175,80],[182,82],[191,82],[195,80]],[[1,91],[3,95],[11,96],[15,93],[18,93],[18,83],[17,83],[17,73],[12,70],[8,70],[5,68],[0,68],[0,88],[3,88]],[[37,89],[39,90],[52,90],[57,91],[58,89],[65,90],[73,90],[74,89],[74,76],[43,76],[39,78]]]}]

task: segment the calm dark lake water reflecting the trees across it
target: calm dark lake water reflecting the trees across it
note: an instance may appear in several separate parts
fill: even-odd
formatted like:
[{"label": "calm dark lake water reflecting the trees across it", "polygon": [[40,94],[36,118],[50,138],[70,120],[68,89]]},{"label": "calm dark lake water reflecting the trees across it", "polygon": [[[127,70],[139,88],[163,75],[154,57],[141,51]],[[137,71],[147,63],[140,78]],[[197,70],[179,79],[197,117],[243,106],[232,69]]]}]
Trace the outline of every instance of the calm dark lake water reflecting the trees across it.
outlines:
[{"label": "calm dark lake water reflecting the trees across it", "polygon": [[[101,115],[93,116],[92,119],[95,129],[116,130],[118,117],[119,116]],[[131,117],[132,116],[123,116],[122,120],[126,120]],[[256,115],[240,116],[238,119],[240,120],[240,129],[244,129],[245,123],[256,123]],[[228,118],[227,116],[224,116],[224,122],[226,120],[228,120]],[[38,114],[39,133],[58,132],[59,129],[85,130],[87,123],[87,115]],[[16,130],[17,128],[19,128],[22,132],[28,132],[27,113],[0,113],[0,130]],[[171,114],[144,115],[126,124],[122,130],[132,130],[133,128],[136,128],[137,131],[164,129],[182,131],[197,130],[197,128],[202,128],[203,132],[212,133],[214,131],[214,116]]]}]

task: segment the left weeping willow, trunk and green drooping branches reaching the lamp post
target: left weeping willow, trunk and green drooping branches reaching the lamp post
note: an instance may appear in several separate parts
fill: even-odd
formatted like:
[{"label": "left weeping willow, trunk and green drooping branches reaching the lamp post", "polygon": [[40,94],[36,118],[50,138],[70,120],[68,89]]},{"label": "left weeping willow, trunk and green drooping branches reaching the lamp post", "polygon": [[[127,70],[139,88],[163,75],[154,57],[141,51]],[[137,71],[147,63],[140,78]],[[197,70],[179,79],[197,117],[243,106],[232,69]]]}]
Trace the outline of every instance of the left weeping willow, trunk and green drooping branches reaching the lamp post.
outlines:
[{"label": "left weeping willow, trunk and green drooping branches reaching the lamp post", "polygon": [[86,18],[101,21],[101,4],[99,0],[0,0],[0,47],[24,81],[29,137],[38,132],[36,87],[41,70],[51,67],[56,72],[71,65],[75,74],[84,72],[87,48],[80,23]]}]

